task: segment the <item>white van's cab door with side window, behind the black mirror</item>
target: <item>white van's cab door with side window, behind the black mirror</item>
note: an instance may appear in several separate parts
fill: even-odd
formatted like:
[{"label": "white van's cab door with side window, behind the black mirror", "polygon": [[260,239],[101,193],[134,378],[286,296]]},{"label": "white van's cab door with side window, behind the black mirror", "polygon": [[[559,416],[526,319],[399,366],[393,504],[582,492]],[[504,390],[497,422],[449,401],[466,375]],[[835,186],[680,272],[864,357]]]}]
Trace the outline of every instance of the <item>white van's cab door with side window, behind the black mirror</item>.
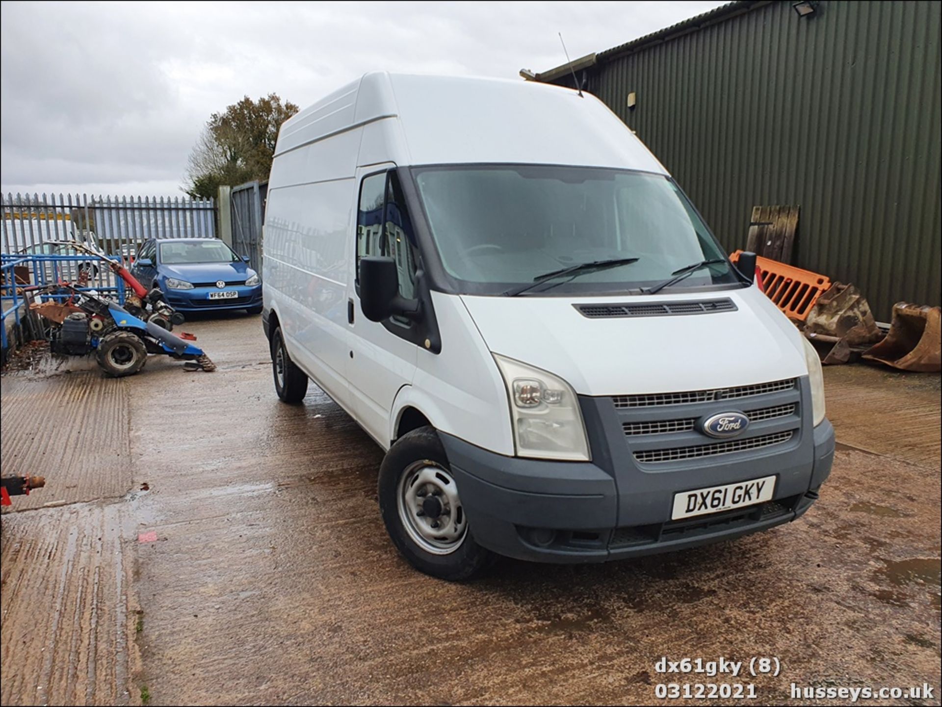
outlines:
[{"label": "white van's cab door with side window, behind the black mirror", "polygon": [[390,442],[389,415],[399,389],[412,383],[418,346],[414,323],[398,317],[371,322],[360,306],[359,261],[365,255],[395,258],[399,294],[412,299],[415,286],[415,234],[395,165],[357,170],[356,237],[349,277],[348,382],[360,424],[383,447]]}]

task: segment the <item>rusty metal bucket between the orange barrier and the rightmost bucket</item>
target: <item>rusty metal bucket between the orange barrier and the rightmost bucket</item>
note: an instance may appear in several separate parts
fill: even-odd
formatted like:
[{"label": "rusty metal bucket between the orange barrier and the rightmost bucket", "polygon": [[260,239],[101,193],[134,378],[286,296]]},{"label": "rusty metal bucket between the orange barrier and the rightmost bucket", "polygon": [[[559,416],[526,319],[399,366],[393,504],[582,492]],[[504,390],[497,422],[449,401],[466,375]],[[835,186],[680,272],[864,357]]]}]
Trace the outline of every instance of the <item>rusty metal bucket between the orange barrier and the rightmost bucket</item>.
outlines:
[{"label": "rusty metal bucket between the orange barrier and the rightmost bucket", "polygon": [[818,297],[805,319],[804,335],[826,365],[847,363],[884,337],[867,298],[843,282]]}]

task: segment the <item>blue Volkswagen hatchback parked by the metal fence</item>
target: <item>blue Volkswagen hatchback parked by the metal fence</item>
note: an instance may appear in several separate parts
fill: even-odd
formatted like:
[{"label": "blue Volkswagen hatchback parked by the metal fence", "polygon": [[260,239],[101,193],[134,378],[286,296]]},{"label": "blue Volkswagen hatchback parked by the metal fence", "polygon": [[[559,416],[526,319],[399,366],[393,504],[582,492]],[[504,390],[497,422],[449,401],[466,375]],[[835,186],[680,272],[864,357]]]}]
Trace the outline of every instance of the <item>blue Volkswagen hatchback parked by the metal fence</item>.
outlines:
[{"label": "blue Volkswagen hatchback parked by the metal fence", "polygon": [[180,312],[262,311],[262,282],[248,258],[219,238],[152,238],[138,250],[131,274],[159,287]]}]

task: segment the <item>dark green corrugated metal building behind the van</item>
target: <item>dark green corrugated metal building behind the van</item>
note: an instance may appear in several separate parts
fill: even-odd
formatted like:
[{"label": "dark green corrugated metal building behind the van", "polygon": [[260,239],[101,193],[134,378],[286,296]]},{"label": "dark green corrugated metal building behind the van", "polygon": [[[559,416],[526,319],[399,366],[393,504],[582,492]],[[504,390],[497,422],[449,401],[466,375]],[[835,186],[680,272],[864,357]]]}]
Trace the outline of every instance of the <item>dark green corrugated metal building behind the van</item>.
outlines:
[{"label": "dark green corrugated metal building behind the van", "polygon": [[883,321],[938,304],[942,4],[795,4],[730,3],[536,80],[575,72],[727,249],[754,205],[798,204],[794,265],[856,283]]}]

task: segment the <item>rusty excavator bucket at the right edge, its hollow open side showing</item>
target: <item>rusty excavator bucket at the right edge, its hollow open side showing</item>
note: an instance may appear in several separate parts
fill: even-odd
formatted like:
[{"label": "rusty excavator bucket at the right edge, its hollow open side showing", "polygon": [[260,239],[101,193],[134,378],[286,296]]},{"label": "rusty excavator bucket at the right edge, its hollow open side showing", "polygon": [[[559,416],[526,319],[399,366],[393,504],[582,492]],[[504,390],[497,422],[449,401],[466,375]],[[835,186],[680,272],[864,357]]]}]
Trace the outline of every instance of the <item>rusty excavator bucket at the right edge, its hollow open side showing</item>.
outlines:
[{"label": "rusty excavator bucket at the right edge, its hollow open side showing", "polygon": [[897,302],[889,333],[870,346],[863,358],[903,371],[938,373],[942,370],[942,307]]}]

